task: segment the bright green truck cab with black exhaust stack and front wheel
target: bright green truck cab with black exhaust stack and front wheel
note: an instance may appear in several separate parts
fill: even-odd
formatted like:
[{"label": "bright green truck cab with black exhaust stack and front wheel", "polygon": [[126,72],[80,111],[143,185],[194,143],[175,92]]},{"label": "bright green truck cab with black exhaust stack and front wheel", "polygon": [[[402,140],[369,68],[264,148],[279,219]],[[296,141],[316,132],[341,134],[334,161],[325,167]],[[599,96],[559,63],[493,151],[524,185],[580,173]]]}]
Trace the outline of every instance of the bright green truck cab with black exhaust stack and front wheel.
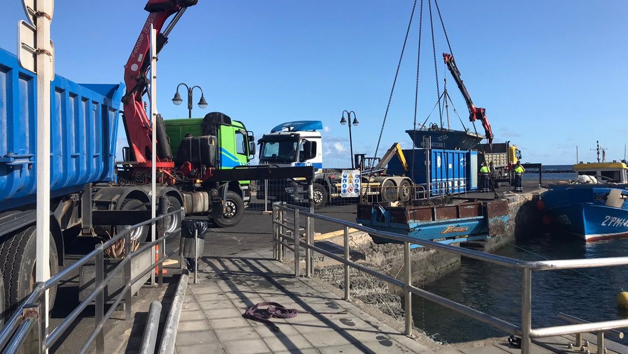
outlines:
[{"label": "bright green truck cab with black exhaust stack and front wheel", "polygon": [[[213,119],[208,119],[209,117]],[[188,136],[213,135],[217,138],[214,166],[217,169],[233,169],[237,166],[248,165],[251,158],[255,156],[256,146],[253,133],[247,131],[241,121],[228,117],[215,119],[215,113],[209,113],[205,118],[165,119],[164,124],[173,156],[175,156],[175,163],[178,163],[176,157],[179,155],[181,142]],[[214,219],[214,222],[221,227],[235,226],[241,221],[244,208],[248,206],[251,199],[249,187],[251,181],[228,180],[220,183],[229,183],[229,189],[225,198],[223,217]],[[198,189],[214,192],[212,191],[214,187],[207,184],[199,184]]]}]

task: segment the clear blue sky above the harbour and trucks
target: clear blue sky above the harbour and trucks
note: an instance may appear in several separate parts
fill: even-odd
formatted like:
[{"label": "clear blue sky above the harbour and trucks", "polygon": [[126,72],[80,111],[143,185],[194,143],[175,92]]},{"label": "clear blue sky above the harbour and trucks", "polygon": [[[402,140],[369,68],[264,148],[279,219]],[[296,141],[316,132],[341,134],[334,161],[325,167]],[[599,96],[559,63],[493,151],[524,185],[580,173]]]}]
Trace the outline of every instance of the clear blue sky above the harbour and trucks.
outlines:
[{"label": "clear blue sky above the harbour and trucks", "polygon": [[[425,0],[427,1],[427,0]],[[147,13],[143,1],[56,1],[51,34],[57,74],[77,82],[122,81]],[[354,110],[354,152],[373,153],[413,1],[207,1],[188,9],[158,65],[158,109],[185,118],[171,98],[178,82],[199,85],[209,103],[256,136],[278,123],[320,119],[325,159],[349,163],[343,109]],[[443,1],[455,58],[475,104],[487,109],[495,141],[511,140],[524,161],[592,161],[600,140],[610,159],[628,142],[626,1]],[[425,5],[426,7],[426,5]],[[20,1],[5,1],[0,47],[15,52]],[[437,18],[435,18],[437,21]],[[447,43],[436,27],[436,55]],[[427,9],[424,14],[418,121],[436,102]],[[410,33],[381,150],[411,147],[418,16]],[[463,121],[464,101],[448,88]],[[195,101],[200,98],[197,94]],[[431,119],[436,122],[438,118]],[[452,128],[460,128],[452,119]],[[468,121],[465,121],[470,126]],[[477,124],[481,133],[481,124]]]}]

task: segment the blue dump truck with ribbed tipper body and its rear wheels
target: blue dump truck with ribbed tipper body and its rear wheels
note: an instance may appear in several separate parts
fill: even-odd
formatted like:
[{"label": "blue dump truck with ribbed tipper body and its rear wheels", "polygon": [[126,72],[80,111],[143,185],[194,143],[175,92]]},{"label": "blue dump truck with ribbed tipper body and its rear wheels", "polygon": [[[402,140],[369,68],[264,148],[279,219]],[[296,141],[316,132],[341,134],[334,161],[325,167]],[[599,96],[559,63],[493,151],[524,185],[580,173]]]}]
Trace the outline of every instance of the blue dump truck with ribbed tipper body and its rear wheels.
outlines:
[{"label": "blue dump truck with ribbed tipper body and its rear wheels", "polygon": [[[0,49],[0,309],[5,317],[31,292],[35,279],[36,86],[36,75]],[[65,245],[76,235],[116,231],[114,225],[94,226],[94,206],[133,209],[149,202],[140,187],[114,184],[123,91],[122,84],[77,84],[59,75],[51,82],[51,274],[63,265]],[[55,293],[50,292],[51,303]]]}]

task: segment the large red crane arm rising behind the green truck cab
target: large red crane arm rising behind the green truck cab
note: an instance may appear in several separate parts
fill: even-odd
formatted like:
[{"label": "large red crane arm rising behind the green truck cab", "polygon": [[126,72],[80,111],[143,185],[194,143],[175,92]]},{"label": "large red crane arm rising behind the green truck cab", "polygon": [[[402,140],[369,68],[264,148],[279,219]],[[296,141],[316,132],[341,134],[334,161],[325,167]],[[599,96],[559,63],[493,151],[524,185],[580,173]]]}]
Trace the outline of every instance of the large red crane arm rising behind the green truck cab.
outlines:
[{"label": "large red crane arm rising behind the green truck cab", "polygon": [[[144,7],[149,12],[146,23],[139,33],[133,51],[124,65],[124,84],[126,84],[126,94],[122,97],[124,108],[124,128],[126,129],[129,147],[131,148],[131,158],[136,162],[150,162],[151,153],[151,127],[150,120],[144,111],[142,96],[149,80],[147,73],[150,64],[150,29],[151,24],[157,31],[157,52],[159,53],[163,45],[168,41],[168,34],[172,30],[176,21],[188,6],[193,6],[198,0],[148,0]],[[175,18],[170,22],[166,31],[161,33],[161,28],[175,14]],[[162,159],[157,157],[157,161]]]}]

